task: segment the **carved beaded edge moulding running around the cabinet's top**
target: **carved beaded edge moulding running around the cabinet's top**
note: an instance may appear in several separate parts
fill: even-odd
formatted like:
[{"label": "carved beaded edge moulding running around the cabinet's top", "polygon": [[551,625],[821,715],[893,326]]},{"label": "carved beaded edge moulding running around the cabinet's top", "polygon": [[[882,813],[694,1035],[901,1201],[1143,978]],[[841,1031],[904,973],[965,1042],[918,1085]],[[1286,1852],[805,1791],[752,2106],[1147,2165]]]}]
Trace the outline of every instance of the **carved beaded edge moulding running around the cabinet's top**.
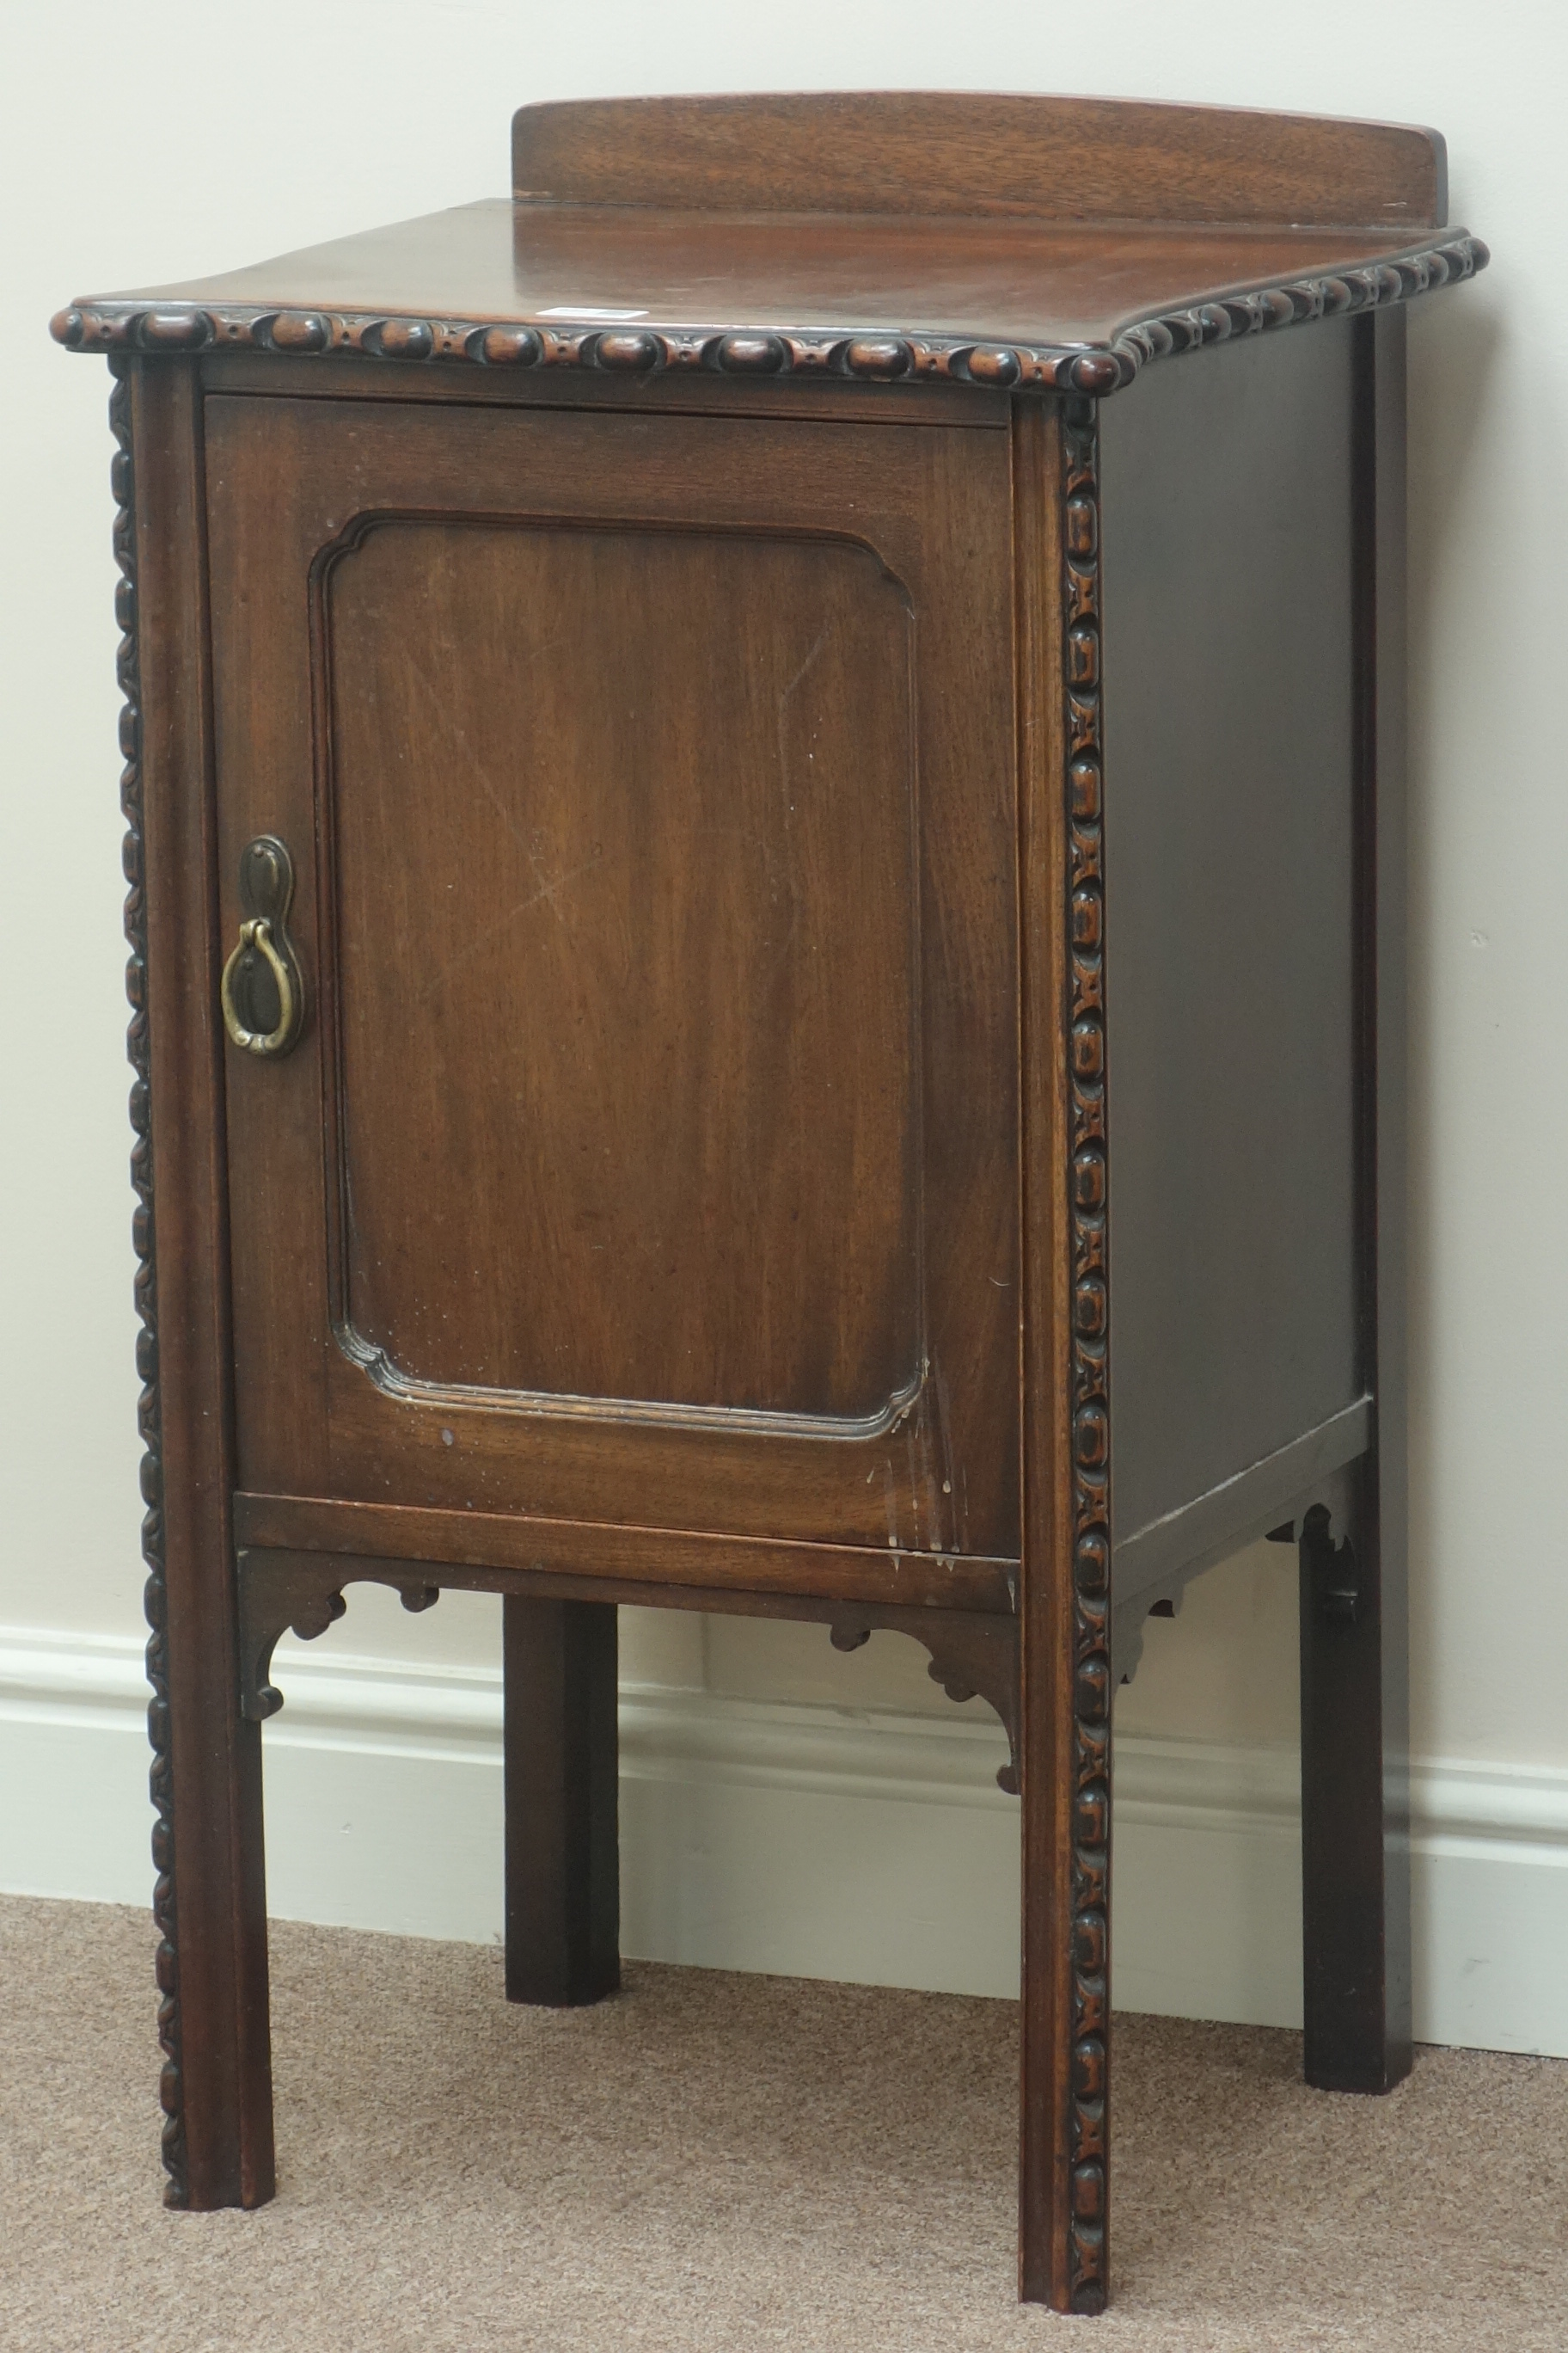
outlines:
[{"label": "carved beaded edge moulding running around the cabinet's top", "polygon": [[983,384],[1018,393],[1114,393],[1154,360],[1237,336],[1410,301],[1474,278],[1479,238],[1410,247],[1333,278],[1232,294],[1133,320],[1110,344],[987,344],[865,329],[736,332],[722,327],[595,327],[484,318],[388,318],[381,311],[280,311],[259,304],[82,301],[49,322],[68,351],[277,351],[289,358],[362,353],[374,360],[465,360],[480,367],[574,367],[623,376],[858,379],[865,384]]}]

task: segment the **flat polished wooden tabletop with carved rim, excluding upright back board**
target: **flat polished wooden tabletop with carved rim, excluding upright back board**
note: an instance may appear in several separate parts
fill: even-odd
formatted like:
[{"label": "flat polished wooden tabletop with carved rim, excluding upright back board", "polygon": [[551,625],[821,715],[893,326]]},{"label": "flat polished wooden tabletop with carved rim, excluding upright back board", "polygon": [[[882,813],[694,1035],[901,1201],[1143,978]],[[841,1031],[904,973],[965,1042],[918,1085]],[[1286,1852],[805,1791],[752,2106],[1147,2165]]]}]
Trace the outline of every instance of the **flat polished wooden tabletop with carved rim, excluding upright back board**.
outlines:
[{"label": "flat polished wooden tabletop with carved rim, excluding upright back board", "polygon": [[1467,231],[1072,226],[463,205],[249,271],[85,296],[71,351],[263,351],[404,372],[1112,393],[1152,360],[1401,304]]}]

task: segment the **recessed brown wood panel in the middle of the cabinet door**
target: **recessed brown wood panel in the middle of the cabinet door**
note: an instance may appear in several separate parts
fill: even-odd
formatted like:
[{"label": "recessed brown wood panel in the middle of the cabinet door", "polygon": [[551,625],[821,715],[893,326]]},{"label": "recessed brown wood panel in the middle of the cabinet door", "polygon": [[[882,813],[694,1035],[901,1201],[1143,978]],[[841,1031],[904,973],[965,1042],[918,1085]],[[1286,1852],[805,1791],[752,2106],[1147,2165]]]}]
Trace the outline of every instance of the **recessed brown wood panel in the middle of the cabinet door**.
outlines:
[{"label": "recessed brown wood panel in the middle of the cabinet door", "polygon": [[383,1377],[912,1398],[907,591],[844,539],[409,518],[322,626],[341,1313]]}]

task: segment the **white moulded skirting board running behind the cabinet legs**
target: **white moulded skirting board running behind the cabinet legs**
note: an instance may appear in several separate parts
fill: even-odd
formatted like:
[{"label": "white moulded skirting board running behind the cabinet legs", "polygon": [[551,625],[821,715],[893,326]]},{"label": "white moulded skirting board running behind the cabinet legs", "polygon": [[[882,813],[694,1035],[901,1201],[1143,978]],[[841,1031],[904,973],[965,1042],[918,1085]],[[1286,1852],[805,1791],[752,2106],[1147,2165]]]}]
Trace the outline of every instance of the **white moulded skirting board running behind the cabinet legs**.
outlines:
[{"label": "white moulded skirting board running behind the cabinet legs", "polygon": [[[277,1661],[268,1899],[292,1920],[501,1934],[501,1678]],[[0,1631],[0,1887],[146,1904],[146,1682],[129,1640]],[[1018,1991],[1001,1729],[630,1687],[623,1951],[950,1993]],[[1413,1774],[1415,2033],[1568,2057],[1568,1772]],[[1124,1739],[1114,2000],[1300,2024],[1300,1793],[1279,1748]]]}]

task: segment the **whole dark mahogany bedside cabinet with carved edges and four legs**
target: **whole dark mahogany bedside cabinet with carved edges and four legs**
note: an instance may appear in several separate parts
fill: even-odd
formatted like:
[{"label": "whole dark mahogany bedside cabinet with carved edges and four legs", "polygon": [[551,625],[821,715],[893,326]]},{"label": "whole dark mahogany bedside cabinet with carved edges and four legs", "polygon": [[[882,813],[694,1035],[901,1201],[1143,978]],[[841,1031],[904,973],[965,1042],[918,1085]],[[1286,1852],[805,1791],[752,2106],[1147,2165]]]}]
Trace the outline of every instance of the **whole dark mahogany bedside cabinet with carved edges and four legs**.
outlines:
[{"label": "whole dark mahogany bedside cabinet with carved edges and four legs", "polygon": [[[273,2193],[261,1720],[505,1595],[508,1993],[616,1605],[914,1635],[1023,1798],[1020,2289],[1107,2292],[1110,1720],[1300,1546],[1307,2078],[1408,2066],[1403,304],[1429,132],[524,108],[115,369],[169,2198]],[[1114,1442],[1112,1442],[1114,1433]]]}]

